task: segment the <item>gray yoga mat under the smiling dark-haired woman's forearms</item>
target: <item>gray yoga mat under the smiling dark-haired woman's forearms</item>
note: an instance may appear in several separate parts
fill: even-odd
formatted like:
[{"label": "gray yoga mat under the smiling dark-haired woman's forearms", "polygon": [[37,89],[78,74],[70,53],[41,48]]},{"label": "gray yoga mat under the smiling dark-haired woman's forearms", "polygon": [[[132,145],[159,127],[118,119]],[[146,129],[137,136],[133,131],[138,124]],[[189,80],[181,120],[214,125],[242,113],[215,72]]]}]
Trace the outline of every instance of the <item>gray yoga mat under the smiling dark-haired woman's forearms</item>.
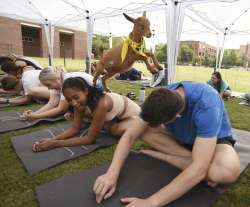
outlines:
[{"label": "gray yoga mat under the smiling dark-haired woman's forearms", "polygon": [[[18,157],[21,159],[30,175],[34,175],[66,160],[71,160],[81,155],[88,154],[97,148],[107,147],[117,142],[117,139],[114,137],[111,137],[107,133],[101,132],[95,143],[91,145],[61,147],[43,152],[32,151],[31,146],[35,141],[38,141],[41,138],[51,138],[62,133],[68,127],[68,125],[51,127],[48,129],[39,130],[34,133],[11,138],[12,145]],[[82,127],[81,132],[76,135],[76,137],[84,135],[86,130],[87,125]]]}]

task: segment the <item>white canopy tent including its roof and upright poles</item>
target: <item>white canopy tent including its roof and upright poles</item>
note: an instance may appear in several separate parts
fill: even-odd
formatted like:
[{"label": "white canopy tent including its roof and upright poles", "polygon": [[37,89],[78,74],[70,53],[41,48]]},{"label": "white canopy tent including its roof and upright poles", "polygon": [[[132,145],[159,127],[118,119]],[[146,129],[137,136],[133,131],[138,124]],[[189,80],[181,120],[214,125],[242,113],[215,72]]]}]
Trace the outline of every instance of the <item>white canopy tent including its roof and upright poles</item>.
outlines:
[{"label": "white canopy tent including its roof and upright poles", "polygon": [[[206,36],[210,36],[209,39],[216,42],[217,37],[220,39],[223,37],[225,28],[244,9],[246,10],[247,6],[250,7],[249,0],[144,0],[140,2],[123,0],[122,2],[124,6],[121,6],[121,1],[116,0],[102,2],[93,0],[9,0],[8,3],[0,2],[0,15],[43,24],[50,57],[53,57],[54,26],[86,31],[86,62],[87,68],[89,68],[94,33],[108,36],[111,46],[112,36],[127,36],[132,30],[131,23],[123,18],[123,12],[137,17],[143,11],[147,11],[151,29],[154,30],[155,35],[151,42],[146,42],[151,43],[152,48],[159,42],[168,43],[168,83],[172,83],[175,81],[181,34],[182,39],[190,39],[194,32],[197,32],[199,40],[202,40],[203,36],[207,41]],[[229,8],[232,9],[232,13],[227,12]],[[223,14],[222,11],[224,11],[225,18],[220,16]],[[245,36],[250,34],[250,25],[240,24],[240,20],[250,19],[249,13],[242,15],[237,19],[237,24],[230,26],[230,34],[240,33]],[[219,52],[217,52],[218,55]],[[223,52],[220,55],[221,62]]]}]

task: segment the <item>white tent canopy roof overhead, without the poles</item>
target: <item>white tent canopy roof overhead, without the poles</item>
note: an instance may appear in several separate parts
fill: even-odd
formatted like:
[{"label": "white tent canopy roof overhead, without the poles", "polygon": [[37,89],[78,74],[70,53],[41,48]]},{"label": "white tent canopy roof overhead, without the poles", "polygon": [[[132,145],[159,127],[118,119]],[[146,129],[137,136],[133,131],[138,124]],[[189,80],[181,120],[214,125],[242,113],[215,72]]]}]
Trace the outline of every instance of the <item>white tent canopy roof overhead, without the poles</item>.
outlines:
[{"label": "white tent canopy roof overhead, without the poles", "polygon": [[[156,43],[166,42],[165,8],[172,0],[8,0],[0,1],[0,16],[33,23],[52,24],[80,31],[86,31],[86,10],[94,20],[94,33],[126,36],[133,25],[122,15],[123,12],[141,16],[147,11],[151,29],[155,30]],[[225,31],[235,36],[238,44],[248,42],[250,36],[249,0],[179,0],[185,4],[186,16],[182,39],[208,40],[209,36]],[[122,26],[121,26],[122,25]],[[239,38],[240,36],[240,38]],[[235,38],[235,37],[232,37]],[[240,39],[240,41],[239,41]]]}]

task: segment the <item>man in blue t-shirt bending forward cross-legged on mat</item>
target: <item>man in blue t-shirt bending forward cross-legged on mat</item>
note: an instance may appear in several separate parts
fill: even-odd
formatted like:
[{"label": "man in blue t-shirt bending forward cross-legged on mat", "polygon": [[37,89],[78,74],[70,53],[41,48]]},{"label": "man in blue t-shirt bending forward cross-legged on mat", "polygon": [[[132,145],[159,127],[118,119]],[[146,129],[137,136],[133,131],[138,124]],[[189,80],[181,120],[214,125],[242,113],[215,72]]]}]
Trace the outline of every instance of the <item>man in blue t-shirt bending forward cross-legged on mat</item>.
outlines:
[{"label": "man in blue t-shirt bending forward cross-legged on mat", "polygon": [[240,161],[233,148],[235,141],[224,102],[206,83],[179,82],[153,91],[140,116],[128,120],[123,127],[108,171],[94,183],[97,203],[114,194],[122,165],[138,137],[156,150],[142,153],[182,172],[147,198],[121,198],[126,207],[165,206],[202,180],[215,186],[232,183],[240,175]]}]

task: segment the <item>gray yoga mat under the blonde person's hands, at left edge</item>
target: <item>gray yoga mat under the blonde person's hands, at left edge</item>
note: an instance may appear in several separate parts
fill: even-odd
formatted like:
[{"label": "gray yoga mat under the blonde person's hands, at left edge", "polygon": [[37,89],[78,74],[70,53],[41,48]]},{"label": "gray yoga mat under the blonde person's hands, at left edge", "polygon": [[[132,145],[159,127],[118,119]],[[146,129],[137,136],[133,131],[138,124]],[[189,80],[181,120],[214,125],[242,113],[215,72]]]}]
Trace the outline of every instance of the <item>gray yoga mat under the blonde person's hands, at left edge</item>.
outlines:
[{"label": "gray yoga mat under the blonde person's hands, at left edge", "polygon": [[64,119],[64,116],[57,116],[52,118],[36,119],[33,121],[24,121],[20,118],[23,110],[16,111],[1,111],[0,112],[0,133],[7,132],[11,130],[24,129],[39,122],[53,122]]}]

